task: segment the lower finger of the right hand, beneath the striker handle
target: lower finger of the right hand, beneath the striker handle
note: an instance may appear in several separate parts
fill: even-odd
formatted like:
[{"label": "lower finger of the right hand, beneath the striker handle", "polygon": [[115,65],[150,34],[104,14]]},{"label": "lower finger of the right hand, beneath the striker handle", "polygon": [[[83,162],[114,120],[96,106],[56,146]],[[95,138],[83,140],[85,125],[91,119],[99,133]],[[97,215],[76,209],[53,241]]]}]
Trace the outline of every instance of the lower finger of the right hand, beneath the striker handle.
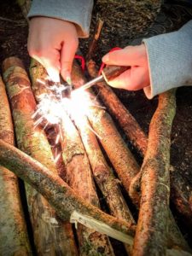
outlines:
[{"label": "lower finger of the right hand, beneath the striker handle", "polygon": [[149,85],[149,78],[143,67],[131,67],[108,84],[125,90],[140,90]]}]

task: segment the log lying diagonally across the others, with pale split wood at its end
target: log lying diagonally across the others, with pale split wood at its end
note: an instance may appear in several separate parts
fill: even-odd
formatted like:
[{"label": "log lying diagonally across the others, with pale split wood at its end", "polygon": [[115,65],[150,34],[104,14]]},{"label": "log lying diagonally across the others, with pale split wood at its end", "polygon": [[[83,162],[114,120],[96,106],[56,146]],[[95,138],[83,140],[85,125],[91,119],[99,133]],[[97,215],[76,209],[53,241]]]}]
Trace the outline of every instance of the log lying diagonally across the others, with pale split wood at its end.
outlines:
[{"label": "log lying diagonally across the others, with pale split wood at its end", "polygon": [[61,177],[18,148],[0,139],[0,164],[37,189],[55,207],[58,216],[81,223],[119,241],[132,244],[135,225],[129,225],[91,206],[79,197]]}]

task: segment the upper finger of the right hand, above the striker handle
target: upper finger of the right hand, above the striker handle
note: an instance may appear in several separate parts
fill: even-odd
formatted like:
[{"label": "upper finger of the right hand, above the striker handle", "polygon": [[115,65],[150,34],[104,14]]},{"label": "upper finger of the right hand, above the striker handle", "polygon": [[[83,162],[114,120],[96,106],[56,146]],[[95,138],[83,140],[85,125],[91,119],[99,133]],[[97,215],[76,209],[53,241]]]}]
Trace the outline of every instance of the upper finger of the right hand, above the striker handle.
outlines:
[{"label": "upper finger of the right hand, above the striker handle", "polygon": [[109,52],[102,57],[102,61],[108,65],[134,66],[138,64],[139,57],[138,46],[128,46]]}]

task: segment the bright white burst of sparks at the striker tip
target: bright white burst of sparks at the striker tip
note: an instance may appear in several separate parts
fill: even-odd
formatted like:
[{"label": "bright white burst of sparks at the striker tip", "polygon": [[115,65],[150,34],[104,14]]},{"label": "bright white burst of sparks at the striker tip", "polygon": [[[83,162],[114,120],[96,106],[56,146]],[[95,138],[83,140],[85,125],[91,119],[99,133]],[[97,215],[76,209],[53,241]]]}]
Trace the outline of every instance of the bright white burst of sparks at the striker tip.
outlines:
[{"label": "bright white burst of sparks at the striker tip", "polygon": [[[45,84],[44,81],[38,79],[38,82]],[[47,86],[47,92],[38,96],[38,108],[35,113],[32,114],[32,119],[35,120],[34,128],[46,122],[43,129],[45,130],[48,125],[57,125],[58,129],[55,136],[55,145],[63,140],[63,134],[61,131],[61,123],[63,116],[67,113],[68,116],[73,119],[74,122],[83,123],[83,117],[89,115],[90,107],[103,108],[95,103],[94,99],[90,99],[90,94],[85,90],[73,90],[70,97],[65,96],[65,85],[53,84]],[[96,134],[97,137],[102,139],[93,128],[86,124],[88,129]],[[61,152],[55,148],[55,163],[60,159]]]}]

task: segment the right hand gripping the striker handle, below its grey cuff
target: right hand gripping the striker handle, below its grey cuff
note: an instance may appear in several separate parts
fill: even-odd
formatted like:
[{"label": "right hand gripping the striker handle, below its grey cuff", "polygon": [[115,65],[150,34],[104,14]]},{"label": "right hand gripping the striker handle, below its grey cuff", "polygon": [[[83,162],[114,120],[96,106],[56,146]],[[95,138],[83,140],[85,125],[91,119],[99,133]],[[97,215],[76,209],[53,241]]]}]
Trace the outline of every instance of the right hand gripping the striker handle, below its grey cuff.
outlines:
[{"label": "right hand gripping the striker handle, below its grey cuff", "polygon": [[109,85],[126,90],[140,90],[150,84],[148,57],[144,44],[127,46],[102,57],[108,65],[129,66],[130,69],[108,82]]}]

